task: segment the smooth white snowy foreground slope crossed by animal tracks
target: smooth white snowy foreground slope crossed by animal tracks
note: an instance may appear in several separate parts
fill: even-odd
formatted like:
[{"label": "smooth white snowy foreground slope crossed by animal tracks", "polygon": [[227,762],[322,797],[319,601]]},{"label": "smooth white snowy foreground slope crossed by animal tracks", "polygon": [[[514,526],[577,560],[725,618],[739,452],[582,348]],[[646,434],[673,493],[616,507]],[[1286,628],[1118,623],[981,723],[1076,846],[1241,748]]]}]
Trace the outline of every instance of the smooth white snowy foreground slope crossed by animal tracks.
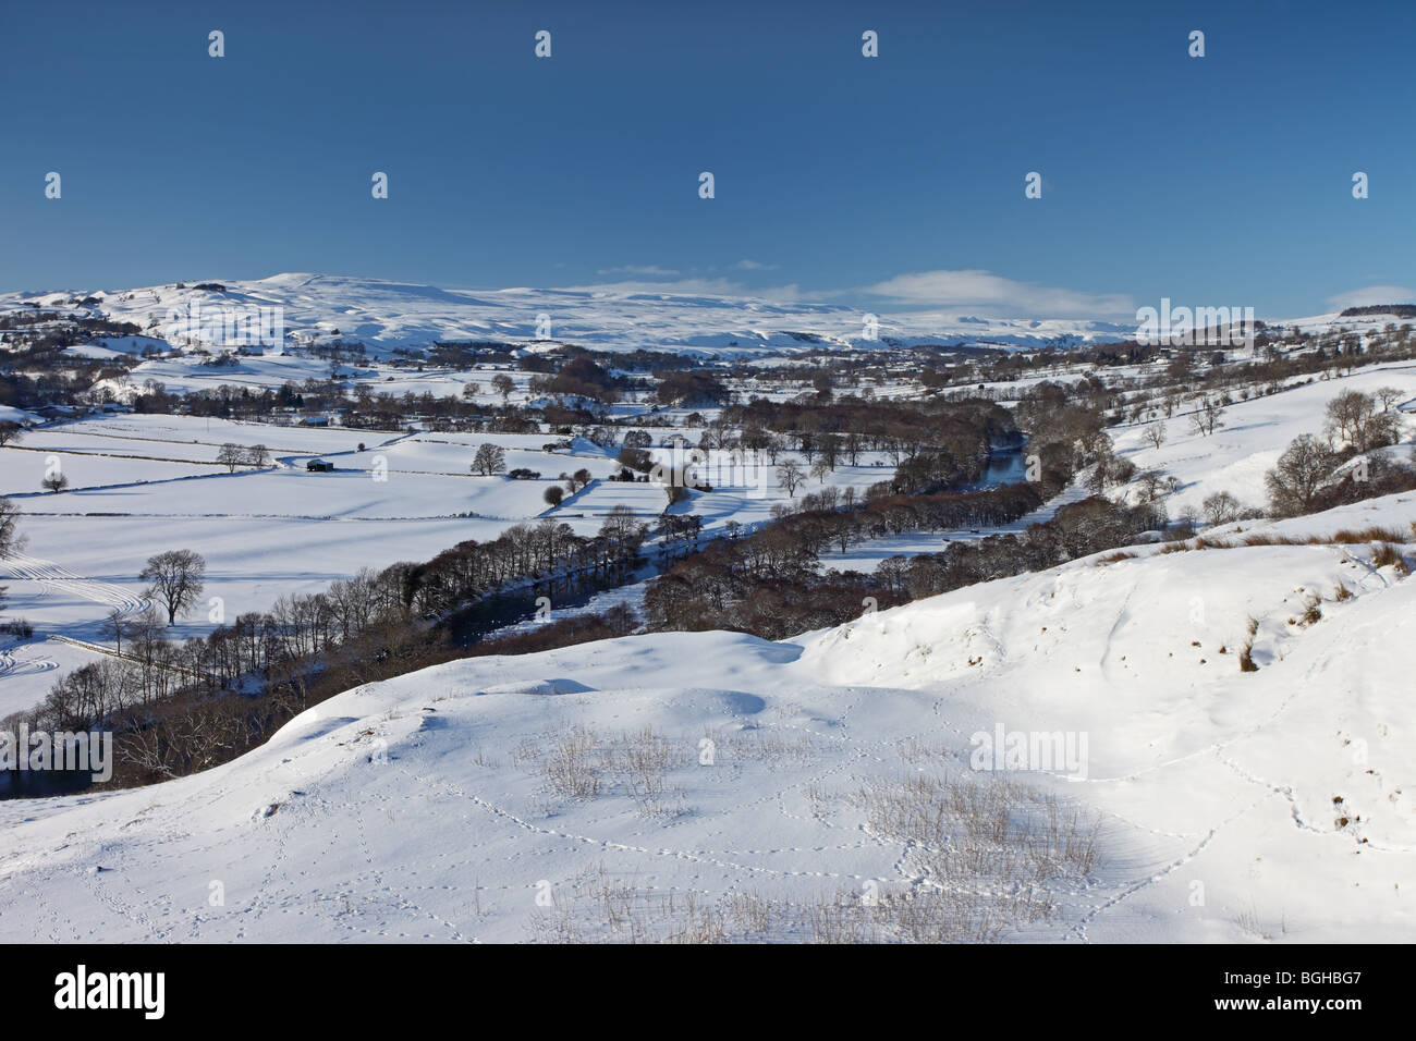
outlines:
[{"label": "smooth white snowy foreground slope crossed by animal tracks", "polygon": [[[1138,547],[793,642],[362,687],[200,776],[0,803],[0,939],[1409,939],[1416,581],[1374,551]],[[1085,769],[970,769],[998,725],[1085,735]]]}]

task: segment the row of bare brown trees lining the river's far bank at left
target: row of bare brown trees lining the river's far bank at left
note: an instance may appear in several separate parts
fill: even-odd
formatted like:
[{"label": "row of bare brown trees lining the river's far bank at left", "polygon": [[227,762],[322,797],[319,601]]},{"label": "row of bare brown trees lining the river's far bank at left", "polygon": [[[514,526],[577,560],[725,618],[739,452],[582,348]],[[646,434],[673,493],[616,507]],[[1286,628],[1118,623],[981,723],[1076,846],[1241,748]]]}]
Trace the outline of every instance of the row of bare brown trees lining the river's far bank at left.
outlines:
[{"label": "row of bare brown trees lining the river's far bank at left", "polygon": [[[0,542],[7,523],[13,541],[13,513],[0,510]],[[266,718],[266,710],[211,710],[201,707],[205,702],[249,701],[232,691],[249,688],[253,680],[266,697],[269,691],[297,694],[292,705],[302,708],[312,676],[331,661],[357,659],[347,652],[360,640],[372,635],[379,644],[413,647],[425,629],[422,619],[513,582],[624,568],[644,537],[646,525],[623,506],[610,511],[592,538],[554,521],[518,524],[491,542],[463,542],[425,564],[364,568],[321,592],[282,596],[266,612],[242,613],[207,636],[181,642],[169,639],[163,615],[170,625],[198,602],[205,562],[190,550],[169,551],[143,569],[147,595],[161,606],[136,616],[110,615],[115,653],[68,673],[37,710],[20,715],[45,729],[113,727],[130,765],[177,776],[194,763],[210,765],[212,756],[219,761],[228,746],[248,746],[251,728]],[[204,735],[215,744],[198,746]]]}]

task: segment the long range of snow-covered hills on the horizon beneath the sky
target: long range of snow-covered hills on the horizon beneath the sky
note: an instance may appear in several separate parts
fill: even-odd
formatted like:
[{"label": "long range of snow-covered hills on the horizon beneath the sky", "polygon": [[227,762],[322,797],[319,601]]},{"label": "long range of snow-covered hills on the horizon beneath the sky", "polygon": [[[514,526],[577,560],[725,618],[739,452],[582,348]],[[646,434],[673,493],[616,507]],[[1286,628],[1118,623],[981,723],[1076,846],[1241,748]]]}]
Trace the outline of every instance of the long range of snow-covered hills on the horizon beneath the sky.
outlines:
[{"label": "long range of snow-covered hills on the horizon beneath the sky", "polygon": [[[76,307],[115,322],[132,322],[144,331],[184,344],[211,341],[202,314],[210,319],[219,307],[252,313],[261,307],[280,307],[285,330],[295,339],[330,339],[337,333],[346,340],[362,341],[375,354],[396,347],[426,347],[435,340],[520,344],[542,337],[606,350],[675,350],[705,355],[891,343],[1041,347],[1062,334],[1119,340],[1134,331],[1109,322],[906,312],[877,314],[881,339],[872,340],[867,339],[865,312],[821,303],[575,289],[457,290],[310,273],[245,282],[224,279],[215,283],[224,292],[198,289],[198,285],[211,283],[93,293],[0,293],[0,309],[21,302]],[[541,316],[549,322],[548,331]]]}]

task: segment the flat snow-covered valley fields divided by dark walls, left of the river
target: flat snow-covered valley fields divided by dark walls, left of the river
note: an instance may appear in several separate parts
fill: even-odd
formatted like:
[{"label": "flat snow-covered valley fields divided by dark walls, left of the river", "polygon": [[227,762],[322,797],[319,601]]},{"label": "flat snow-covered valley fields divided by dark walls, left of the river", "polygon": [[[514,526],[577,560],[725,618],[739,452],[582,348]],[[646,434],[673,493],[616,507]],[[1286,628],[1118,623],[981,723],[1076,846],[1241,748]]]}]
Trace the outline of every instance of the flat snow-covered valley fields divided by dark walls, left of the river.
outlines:
[{"label": "flat snow-covered valley fields divided by dark walls, left of the river", "polygon": [[[671,432],[651,429],[660,438]],[[27,431],[0,448],[0,494],[23,511],[25,540],[23,558],[0,561],[0,584],[7,586],[4,615],[28,620],[35,636],[13,647],[16,667],[0,660],[0,717],[37,704],[62,671],[92,660],[89,652],[50,637],[112,642],[105,616],[115,606],[120,613],[143,606],[137,575],[149,557],[166,550],[200,552],[207,559],[202,601],[219,598],[219,613],[202,608],[173,627],[174,637],[185,637],[210,632],[215,618],[229,622],[266,610],[279,596],[321,591],[364,567],[428,559],[469,538],[494,540],[513,524],[549,517],[593,535],[617,506],[650,524],[664,511],[660,486],[606,480],[620,469],[617,449],[576,438],[569,449],[545,450],[559,440],[545,433],[411,433],[136,414]],[[472,459],[486,442],[506,450],[508,470],[524,467],[541,477],[473,476]],[[215,462],[224,443],[265,445],[272,466],[228,472]],[[664,449],[654,453],[673,460]],[[306,463],[316,457],[337,469],[310,473]],[[806,469],[797,453],[780,459]],[[872,460],[874,453],[862,456],[861,466],[841,466],[827,482],[864,490],[889,472],[865,465]],[[40,487],[51,469],[68,477],[68,489]],[[582,469],[592,483],[549,507],[547,487]],[[732,520],[765,521],[773,504],[789,500],[765,462],[735,476],[709,467],[705,476],[729,483],[692,491],[673,510],[701,514],[709,535]],[[799,494],[827,482],[809,477]]]}]

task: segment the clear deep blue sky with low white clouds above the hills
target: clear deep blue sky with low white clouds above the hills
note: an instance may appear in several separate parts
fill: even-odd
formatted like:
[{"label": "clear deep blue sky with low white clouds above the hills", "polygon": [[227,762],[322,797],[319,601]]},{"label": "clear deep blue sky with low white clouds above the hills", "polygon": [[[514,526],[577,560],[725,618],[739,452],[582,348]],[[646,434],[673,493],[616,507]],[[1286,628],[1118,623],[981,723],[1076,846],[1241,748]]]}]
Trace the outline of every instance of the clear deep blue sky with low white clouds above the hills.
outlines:
[{"label": "clear deep blue sky with low white clouds above the hills", "polygon": [[135,0],[4,23],[6,290],[317,271],[1039,316],[1416,299],[1405,1]]}]

